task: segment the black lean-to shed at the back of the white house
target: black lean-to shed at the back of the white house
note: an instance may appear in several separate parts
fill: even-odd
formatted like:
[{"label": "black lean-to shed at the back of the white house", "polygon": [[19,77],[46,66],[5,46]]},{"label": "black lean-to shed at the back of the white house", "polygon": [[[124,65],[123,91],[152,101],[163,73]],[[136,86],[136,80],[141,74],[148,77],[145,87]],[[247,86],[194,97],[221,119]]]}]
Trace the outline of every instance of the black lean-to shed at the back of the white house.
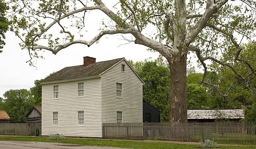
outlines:
[{"label": "black lean-to shed at the back of the white house", "polygon": [[160,111],[144,100],[143,122],[160,122]]}]

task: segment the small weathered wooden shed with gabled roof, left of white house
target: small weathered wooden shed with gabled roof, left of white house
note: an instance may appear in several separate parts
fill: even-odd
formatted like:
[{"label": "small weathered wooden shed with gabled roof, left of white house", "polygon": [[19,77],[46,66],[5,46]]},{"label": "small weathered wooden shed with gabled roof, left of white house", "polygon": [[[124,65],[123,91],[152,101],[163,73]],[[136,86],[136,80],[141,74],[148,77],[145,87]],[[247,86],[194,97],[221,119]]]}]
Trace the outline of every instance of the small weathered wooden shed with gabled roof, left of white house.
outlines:
[{"label": "small weathered wooden shed with gabled roof, left of white house", "polygon": [[33,106],[26,115],[27,123],[42,122],[42,108],[41,106]]}]

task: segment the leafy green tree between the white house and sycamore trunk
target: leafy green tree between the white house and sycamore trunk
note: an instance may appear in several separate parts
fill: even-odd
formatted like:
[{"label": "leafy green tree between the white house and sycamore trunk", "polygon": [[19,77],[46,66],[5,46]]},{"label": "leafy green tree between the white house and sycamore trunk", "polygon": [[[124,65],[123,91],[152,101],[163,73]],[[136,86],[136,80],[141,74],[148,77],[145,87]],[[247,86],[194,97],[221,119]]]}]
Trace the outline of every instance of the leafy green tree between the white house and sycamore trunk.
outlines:
[{"label": "leafy green tree between the white house and sycamore trunk", "polygon": [[160,121],[169,118],[169,80],[170,71],[167,67],[158,66],[156,61],[145,62],[138,75],[144,80],[143,100],[160,110]]}]

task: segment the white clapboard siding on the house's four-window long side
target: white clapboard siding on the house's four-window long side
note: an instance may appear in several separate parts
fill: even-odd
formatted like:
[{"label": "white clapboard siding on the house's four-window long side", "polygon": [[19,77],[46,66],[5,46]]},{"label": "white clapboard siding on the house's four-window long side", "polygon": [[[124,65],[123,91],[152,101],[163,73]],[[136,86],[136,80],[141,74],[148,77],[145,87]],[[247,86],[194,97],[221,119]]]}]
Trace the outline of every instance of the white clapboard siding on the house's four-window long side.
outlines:
[{"label": "white clapboard siding on the house's four-window long side", "polygon": [[[84,97],[77,96],[84,82]],[[53,86],[59,86],[59,99],[53,99]],[[78,125],[77,111],[84,111],[84,126]],[[52,112],[58,112],[58,126],[52,125]],[[101,78],[42,84],[42,135],[101,137]]]}]

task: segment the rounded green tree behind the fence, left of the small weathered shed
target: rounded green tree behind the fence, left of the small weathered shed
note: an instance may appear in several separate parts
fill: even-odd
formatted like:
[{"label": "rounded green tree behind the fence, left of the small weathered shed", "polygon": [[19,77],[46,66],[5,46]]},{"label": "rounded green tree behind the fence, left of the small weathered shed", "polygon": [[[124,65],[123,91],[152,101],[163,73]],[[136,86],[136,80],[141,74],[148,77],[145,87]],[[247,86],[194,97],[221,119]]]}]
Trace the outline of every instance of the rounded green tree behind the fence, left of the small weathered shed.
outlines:
[{"label": "rounded green tree behind the fence, left of the small weathered shed", "polygon": [[26,89],[9,90],[4,94],[5,110],[10,117],[10,123],[25,123],[25,115],[33,106],[33,98]]}]

